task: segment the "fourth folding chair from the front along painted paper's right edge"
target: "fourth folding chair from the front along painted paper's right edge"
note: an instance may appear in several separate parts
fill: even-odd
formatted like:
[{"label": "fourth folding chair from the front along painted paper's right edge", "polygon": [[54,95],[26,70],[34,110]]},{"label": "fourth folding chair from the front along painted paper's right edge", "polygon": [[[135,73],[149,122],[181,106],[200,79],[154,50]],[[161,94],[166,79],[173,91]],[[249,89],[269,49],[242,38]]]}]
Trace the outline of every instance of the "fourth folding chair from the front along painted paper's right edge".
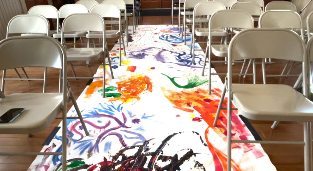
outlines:
[{"label": "fourth folding chair from the front along painted paper's right edge", "polygon": [[[182,34],[182,36],[185,37],[185,45],[186,45],[186,22],[188,23],[193,23],[193,17],[186,17],[186,15],[191,16],[193,15],[192,11],[186,11],[186,9],[193,9],[199,2],[206,2],[207,0],[185,0],[184,2],[184,12],[181,12],[181,14],[183,15],[183,31],[184,34]],[[208,22],[208,17],[200,17],[197,18],[197,22]]]}]

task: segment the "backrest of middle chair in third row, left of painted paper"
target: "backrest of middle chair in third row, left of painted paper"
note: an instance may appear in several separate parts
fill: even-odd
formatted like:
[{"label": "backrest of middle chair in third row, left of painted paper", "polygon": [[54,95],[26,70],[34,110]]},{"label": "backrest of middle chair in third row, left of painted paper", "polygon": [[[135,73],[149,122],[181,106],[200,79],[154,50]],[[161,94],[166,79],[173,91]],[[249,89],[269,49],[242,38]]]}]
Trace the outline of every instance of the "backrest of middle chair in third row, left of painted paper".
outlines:
[{"label": "backrest of middle chair in third row, left of painted paper", "polygon": [[59,9],[59,18],[66,18],[75,13],[88,13],[88,8],[82,4],[66,4]]}]

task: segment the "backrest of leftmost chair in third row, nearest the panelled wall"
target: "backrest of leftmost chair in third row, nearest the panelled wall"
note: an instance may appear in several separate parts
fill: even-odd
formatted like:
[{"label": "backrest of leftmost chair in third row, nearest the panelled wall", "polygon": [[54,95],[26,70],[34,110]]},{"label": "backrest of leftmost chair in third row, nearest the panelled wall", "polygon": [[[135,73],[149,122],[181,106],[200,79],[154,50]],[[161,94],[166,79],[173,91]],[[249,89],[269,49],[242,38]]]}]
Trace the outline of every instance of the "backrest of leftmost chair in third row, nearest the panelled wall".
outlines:
[{"label": "backrest of leftmost chair in third row, nearest the panelled wall", "polygon": [[58,9],[52,5],[36,5],[28,10],[30,15],[42,15],[46,18],[58,18]]}]

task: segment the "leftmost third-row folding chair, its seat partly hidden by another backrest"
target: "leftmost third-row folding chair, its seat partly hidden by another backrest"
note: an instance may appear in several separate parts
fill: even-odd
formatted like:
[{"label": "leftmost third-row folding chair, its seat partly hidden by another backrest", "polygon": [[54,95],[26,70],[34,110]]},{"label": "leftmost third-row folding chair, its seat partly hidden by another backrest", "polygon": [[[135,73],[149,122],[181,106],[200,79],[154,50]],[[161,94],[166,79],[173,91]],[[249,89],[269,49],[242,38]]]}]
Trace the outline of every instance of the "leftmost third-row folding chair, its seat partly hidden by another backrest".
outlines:
[{"label": "leftmost third-row folding chair, its seat partly hidden by another backrest", "polygon": [[[58,18],[58,9],[52,5],[36,5],[31,7],[28,10],[29,15],[42,15],[44,17],[51,18],[51,19],[57,19]],[[58,23],[57,23],[58,24]],[[58,26],[57,26],[58,27]],[[56,30],[49,30],[49,36],[53,36],[54,33],[56,33]],[[46,35],[45,33],[23,33],[22,36],[28,36],[28,35]]]}]

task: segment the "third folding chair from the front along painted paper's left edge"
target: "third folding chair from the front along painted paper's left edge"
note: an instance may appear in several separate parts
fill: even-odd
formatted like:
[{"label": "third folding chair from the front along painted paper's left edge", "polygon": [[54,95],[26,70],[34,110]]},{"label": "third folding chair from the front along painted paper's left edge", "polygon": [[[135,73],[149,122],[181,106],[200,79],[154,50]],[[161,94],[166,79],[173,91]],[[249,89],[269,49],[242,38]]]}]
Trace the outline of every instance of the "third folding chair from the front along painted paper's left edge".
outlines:
[{"label": "third folding chair from the front along painted paper's left edge", "polygon": [[[124,44],[124,37],[122,33],[122,27],[121,27],[121,10],[119,7],[117,7],[114,4],[97,4],[90,8],[91,13],[99,14],[101,17],[111,17],[111,18],[118,18],[119,19],[119,30],[106,30],[105,31],[105,37],[106,38],[116,38],[119,37],[119,56],[120,56],[120,66],[122,65],[122,53],[121,53],[121,42],[123,42],[123,48],[124,48],[124,54],[126,54],[125,51],[125,44]],[[107,23],[105,23],[107,24]],[[89,32],[86,34],[86,37],[89,38],[102,38],[103,33],[102,32]],[[94,45],[95,47],[95,45]]]}]

